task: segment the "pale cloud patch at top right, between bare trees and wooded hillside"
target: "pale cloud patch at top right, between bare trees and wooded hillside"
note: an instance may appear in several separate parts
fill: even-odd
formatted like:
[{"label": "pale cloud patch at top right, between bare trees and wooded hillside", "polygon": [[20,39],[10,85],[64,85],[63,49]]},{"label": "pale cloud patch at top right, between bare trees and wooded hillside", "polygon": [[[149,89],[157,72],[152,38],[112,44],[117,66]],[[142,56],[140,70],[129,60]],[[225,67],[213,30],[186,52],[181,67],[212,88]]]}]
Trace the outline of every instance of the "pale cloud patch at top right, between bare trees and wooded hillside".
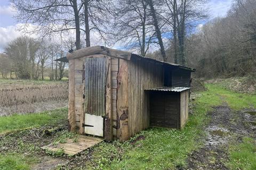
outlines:
[{"label": "pale cloud patch at top right, between bare trees and wooded hillside", "polygon": [[211,0],[209,7],[210,18],[223,17],[227,15],[233,0]]}]

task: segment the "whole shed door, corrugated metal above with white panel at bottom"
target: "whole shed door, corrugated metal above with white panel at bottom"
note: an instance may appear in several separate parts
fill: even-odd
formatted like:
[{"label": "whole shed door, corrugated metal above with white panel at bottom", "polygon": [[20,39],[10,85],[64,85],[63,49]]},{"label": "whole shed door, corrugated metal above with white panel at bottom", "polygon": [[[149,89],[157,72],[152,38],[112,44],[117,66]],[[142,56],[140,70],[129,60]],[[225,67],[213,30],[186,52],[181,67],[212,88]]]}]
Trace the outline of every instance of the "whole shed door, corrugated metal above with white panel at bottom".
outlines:
[{"label": "whole shed door, corrugated metal above with white panel at bottom", "polygon": [[85,133],[103,137],[106,115],[107,66],[105,57],[86,58],[84,63]]}]

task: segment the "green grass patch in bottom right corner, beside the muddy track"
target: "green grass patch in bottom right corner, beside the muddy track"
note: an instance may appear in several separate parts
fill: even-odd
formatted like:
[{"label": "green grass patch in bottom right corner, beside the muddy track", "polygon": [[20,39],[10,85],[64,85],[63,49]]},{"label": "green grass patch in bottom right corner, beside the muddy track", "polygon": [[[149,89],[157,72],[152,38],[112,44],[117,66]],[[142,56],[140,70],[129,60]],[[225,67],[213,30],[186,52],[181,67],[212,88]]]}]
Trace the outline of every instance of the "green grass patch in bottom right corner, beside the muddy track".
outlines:
[{"label": "green grass patch in bottom right corner, beside the muddy track", "polygon": [[256,169],[256,143],[252,138],[243,138],[243,142],[229,148],[230,169]]}]

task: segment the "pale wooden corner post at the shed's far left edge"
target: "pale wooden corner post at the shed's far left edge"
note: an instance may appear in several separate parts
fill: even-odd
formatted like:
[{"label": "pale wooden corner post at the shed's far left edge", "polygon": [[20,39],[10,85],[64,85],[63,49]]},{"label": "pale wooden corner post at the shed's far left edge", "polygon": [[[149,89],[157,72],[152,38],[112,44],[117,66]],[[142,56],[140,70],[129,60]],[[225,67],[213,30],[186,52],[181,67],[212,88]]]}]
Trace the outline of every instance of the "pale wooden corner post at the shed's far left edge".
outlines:
[{"label": "pale wooden corner post at the shed's far left edge", "polygon": [[76,118],[75,118],[75,61],[69,61],[68,72],[68,130],[76,132]]}]

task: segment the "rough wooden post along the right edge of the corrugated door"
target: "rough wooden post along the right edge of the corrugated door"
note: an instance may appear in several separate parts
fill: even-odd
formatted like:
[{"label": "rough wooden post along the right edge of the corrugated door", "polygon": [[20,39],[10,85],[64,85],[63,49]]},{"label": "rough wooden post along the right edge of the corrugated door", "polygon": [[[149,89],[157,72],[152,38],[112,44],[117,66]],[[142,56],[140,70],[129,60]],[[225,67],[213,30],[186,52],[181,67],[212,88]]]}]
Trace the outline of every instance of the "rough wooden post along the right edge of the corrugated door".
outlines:
[{"label": "rough wooden post along the right edge of the corrugated door", "polygon": [[104,136],[107,141],[113,140],[113,112],[112,112],[112,90],[111,90],[111,57],[107,60],[107,80],[106,80],[106,116]]}]

